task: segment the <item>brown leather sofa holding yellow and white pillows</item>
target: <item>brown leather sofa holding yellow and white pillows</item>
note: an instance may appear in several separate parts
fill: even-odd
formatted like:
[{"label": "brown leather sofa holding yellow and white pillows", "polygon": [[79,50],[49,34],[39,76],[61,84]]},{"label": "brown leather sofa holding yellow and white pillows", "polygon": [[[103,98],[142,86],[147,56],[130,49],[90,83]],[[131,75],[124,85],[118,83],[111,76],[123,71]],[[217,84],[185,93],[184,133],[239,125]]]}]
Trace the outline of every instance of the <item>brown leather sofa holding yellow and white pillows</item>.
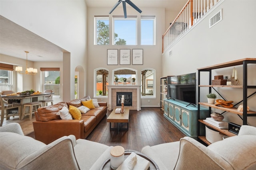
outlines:
[{"label": "brown leather sofa holding yellow and white pillows", "polygon": [[35,112],[36,121],[33,122],[36,140],[49,144],[68,135],[75,135],[76,139],[85,139],[106,115],[107,102],[98,102],[100,106],[82,114],[80,120],[64,120],[56,113],[64,106],[80,107],[82,101],[89,99],[90,96],[85,96],[70,102],[59,102],[58,104],[38,108]]}]

